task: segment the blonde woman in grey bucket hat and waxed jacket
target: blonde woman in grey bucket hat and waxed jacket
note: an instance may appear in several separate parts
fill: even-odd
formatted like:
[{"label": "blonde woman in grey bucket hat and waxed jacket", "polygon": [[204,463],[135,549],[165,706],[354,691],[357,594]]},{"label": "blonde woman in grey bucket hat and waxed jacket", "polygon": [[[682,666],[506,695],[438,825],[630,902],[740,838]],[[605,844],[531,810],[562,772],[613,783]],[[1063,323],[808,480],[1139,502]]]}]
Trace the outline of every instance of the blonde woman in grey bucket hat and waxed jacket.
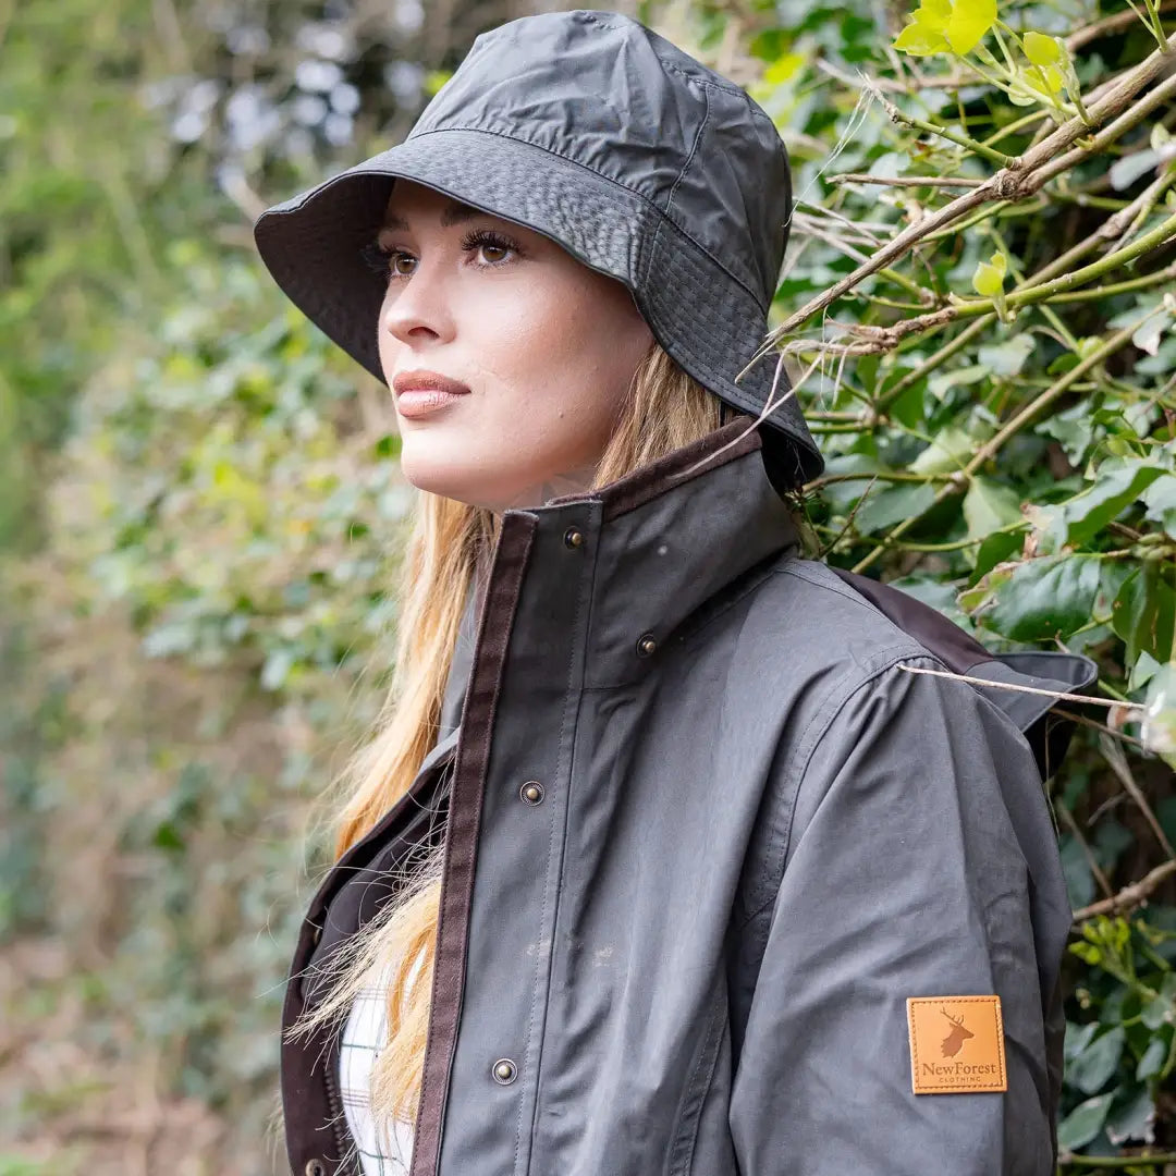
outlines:
[{"label": "blonde woman in grey bucket hat and waxed jacket", "polygon": [[259,220],[422,492],[292,965],[294,1172],[1053,1172],[1067,731],[996,683],[1090,666],[803,557],[820,455],[736,380],[789,205],[741,89],[570,12]]}]

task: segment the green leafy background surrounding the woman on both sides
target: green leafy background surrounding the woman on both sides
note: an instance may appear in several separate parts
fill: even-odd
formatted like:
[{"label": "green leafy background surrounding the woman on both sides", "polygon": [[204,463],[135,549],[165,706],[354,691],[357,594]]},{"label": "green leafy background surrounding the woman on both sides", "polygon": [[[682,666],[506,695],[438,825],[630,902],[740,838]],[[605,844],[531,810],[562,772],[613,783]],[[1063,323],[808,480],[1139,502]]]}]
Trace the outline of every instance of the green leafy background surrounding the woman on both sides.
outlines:
[{"label": "green leafy background surrounding the woman on both sides", "polygon": [[[402,138],[479,32],[552,7],[574,6],[0,0],[0,1176],[287,1170],[276,1027],[327,863],[315,801],[386,682],[412,499],[385,389],[285,302],[252,221]],[[977,139],[1015,153],[1037,129],[1017,122],[1031,92],[896,49],[906,6],[609,7],[777,121],[800,198],[777,320],[958,192],[834,172],[975,183],[994,169]],[[1002,15],[1077,36],[1084,88],[1176,27],[1172,5]],[[858,69],[967,141],[863,108]],[[887,326],[974,296],[994,249],[1031,273],[1124,208],[1136,239],[1163,227],[1174,109],[830,318]],[[809,513],[831,561],[994,648],[1089,653],[1104,695],[1154,708],[1150,733],[1138,711],[1083,711],[1051,786],[1076,909],[1150,880],[1147,906],[1075,928],[1075,1171],[1176,1151],[1171,235],[1097,279],[1123,289],[829,353],[801,393],[829,455]]]}]

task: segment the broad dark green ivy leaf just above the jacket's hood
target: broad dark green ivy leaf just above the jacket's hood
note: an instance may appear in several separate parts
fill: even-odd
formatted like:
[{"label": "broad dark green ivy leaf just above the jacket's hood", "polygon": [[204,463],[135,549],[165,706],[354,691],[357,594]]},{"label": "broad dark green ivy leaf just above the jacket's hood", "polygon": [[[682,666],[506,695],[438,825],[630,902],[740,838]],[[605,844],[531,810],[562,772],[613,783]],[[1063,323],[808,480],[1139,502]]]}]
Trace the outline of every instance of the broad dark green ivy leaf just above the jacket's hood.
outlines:
[{"label": "broad dark green ivy leaf just above the jacket's hood", "polygon": [[1093,615],[1100,563],[1093,555],[1057,555],[1020,564],[982,623],[1014,641],[1068,637]]}]

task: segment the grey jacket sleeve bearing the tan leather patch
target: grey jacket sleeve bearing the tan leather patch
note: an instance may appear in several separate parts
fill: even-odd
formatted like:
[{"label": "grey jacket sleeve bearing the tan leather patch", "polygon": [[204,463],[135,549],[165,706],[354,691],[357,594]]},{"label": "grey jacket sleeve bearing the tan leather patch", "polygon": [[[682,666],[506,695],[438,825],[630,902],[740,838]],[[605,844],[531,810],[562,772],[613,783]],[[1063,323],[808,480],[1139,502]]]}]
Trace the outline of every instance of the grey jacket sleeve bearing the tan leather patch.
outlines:
[{"label": "grey jacket sleeve bearing the tan leather patch", "polygon": [[[731,1089],[739,1169],[1053,1176],[1070,910],[1041,776],[971,687],[894,662],[773,781],[794,800]],[[915,1094],[907,998],[994,994],[1007,1090]]]}]

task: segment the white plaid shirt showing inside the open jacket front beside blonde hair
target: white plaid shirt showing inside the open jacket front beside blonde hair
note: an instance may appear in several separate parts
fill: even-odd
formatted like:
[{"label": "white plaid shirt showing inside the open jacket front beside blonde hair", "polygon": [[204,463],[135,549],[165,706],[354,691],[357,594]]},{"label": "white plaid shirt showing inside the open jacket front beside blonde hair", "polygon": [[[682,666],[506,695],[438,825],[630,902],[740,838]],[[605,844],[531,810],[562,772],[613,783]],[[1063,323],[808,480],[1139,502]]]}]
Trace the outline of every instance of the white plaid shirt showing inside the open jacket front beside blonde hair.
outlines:
[{"label": "white plaid shirt showing inside the open jacket front beside blonde hair", "polygon": [[[417,965],[419,967],[419,965]],[[416,969],[409,976],[412,981]],[[408,1176],[413,1127],[397,1121],[394,1138],[381,1138],[372,1118],[372,1067],[387,1038],[387,973],[380,985],[365,988],[352,1004],[339,1047],[339,1090],[363,1176]]]}]

